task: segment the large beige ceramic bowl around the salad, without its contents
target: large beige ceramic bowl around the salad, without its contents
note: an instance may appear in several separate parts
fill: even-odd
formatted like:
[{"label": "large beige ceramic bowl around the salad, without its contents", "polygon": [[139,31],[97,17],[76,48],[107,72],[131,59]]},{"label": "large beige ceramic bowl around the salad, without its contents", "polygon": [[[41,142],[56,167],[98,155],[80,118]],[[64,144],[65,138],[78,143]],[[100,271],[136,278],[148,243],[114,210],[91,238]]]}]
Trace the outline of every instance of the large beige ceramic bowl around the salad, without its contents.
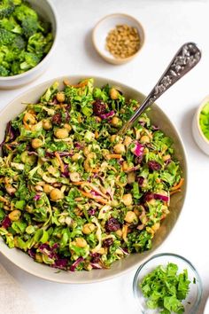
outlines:
[{"label": "large beige ceramic bowl around the salad, without its contents", "polygon": [[[38,101],[43,92],[55,81],[60,82],[60,87],[63,86],[63,80],[69,79],[69,81],[74,84],[81,79],[86,77],[81,76],[63,76],[59,78],[51,79],[48,82],[43,82],[42,84],[27,90],[24,94],[12,100],[12,102],[4,108],[0,113],[0,141],[4,139],[4,130],[6,128],[6,123],[15,118],[19,113],[21,113],[26,105],[22,103],[35,103]],[[120,87],[120,90],[124,93],[126,98],[135,98],[140,102],[143,101],[144,96],[141,92],[134,90],[120,82],[114,82],[109,79],[104,79],[101,77],[95,77],[95,85],[103,86],[106,83],[109,83],[113,86]],[[93,270],[93,271],[77,271],[77,272],[58,272],[56,269],[50,268],[47,265],[41,263],[35,263],[32,258],[23,253],[17,248],[9,248],[4,243],[3,239],[0,239],[0,252],[2,252],[12,263],[15,263],[21,269],[37,276],[42,279],[48,279],[51,281],[57,281],[62,283],[92,283],[96,281],[101,281],[105,279],[111,279],[119,274],[122,274],[139,263],[144,263],[144,261],[150,257],[153,252],[159,247],[164,240],[167,238],[169,233],[174,228],[174,225],[180,216],[182,211],[183,202],[186,195],[187,187],[187,161],[182,144],[182,139],[178,134],[178,131],[175,130],[174,125],[168,119],[166,114],[163,113],[157,105],[153,105],[151,112],[149,113],[151,120],[154,124],[158,125],[161,130],[166,132],[166,135],[172,137],[174,140],[174,148],[177,159],[180,161],[183,177],[185,179],[182,186],[182,192],[175,193],[171,198],[170,204],[170,214],[166,217],[163,224],[161,225],[159,231],[156,233],[153,240],[153,245],[150,251],[144,252],[142,254],[133,254],[129,255],[127,258],[115,262],[112,265],[110,270]]]}]

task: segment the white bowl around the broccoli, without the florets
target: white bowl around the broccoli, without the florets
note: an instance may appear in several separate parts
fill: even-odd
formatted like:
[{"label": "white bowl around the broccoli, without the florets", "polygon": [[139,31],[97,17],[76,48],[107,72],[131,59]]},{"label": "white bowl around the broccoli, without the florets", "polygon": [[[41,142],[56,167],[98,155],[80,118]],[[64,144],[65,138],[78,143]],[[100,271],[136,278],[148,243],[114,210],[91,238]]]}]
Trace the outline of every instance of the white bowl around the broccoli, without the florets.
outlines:
[{"label": "white bowl around the broccoli, without the florets", "polygon": [[34,81],[38,76],[43,74],[47,67],[49,67],[51,57],[55,51],[58,34],[58,18],[56,10],[47,0],[27,0],[27,2],[31,4],[31,6],[35,9],[36,12],[38,12],[39,16],[41,16],[43,20],[47,20],[51,23],[54,41],[48,54],[37,66],[20,75],[0,76],[0,89],[3,90],[19,88],[20,86]]}]

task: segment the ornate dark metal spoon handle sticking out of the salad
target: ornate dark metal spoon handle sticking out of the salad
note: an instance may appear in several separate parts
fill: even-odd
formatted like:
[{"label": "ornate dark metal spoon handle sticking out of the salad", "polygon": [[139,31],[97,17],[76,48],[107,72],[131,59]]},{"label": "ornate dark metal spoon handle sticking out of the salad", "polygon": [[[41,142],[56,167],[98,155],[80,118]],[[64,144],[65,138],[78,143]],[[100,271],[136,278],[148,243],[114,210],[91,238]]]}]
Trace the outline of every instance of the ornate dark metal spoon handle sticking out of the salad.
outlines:
[{"label": "ornate dark metal spoon handle sticking out of the salad", "polygon": [[135,114],[126,122],[119,135],[126,133],[133,123],[139,118],[143,111],[153,104],[166,90],[168,90],[175,82],[186,75],[193,67],[197,65],[201,59],[201,51],[195,43],[184,43],[179,51],[174,55],[164,74],[160,77],[159,82],[151,90],[150,94],[145,98],[143,104],[135,110]]}]

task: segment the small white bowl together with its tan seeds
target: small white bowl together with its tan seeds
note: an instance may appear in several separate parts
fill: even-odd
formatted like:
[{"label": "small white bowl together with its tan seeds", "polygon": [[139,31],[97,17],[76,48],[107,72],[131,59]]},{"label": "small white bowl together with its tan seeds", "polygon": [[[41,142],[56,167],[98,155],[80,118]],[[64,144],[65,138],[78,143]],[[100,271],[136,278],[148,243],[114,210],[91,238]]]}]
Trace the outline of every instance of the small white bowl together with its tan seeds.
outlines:
[{"label": "small white bowl together with its tan seeds", "polygon": [[92,40],[99,55],[119,65],[130,61],[144,43],[143,26],[130,15],[115,13],[105,16],[93,29]]}]

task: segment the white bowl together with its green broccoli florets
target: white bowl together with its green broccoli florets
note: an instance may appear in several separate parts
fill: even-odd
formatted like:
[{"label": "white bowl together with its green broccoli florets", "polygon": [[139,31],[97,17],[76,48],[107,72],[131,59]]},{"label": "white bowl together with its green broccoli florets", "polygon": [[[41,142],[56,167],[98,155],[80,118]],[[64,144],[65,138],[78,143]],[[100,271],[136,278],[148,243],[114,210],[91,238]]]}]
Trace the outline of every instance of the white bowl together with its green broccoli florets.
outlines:
[{"label": "white bowl together with its green broccoli florets", "polygon": [[32,82],[48,67],[58,28],[46,0],[0,1],[0,88]]}]

